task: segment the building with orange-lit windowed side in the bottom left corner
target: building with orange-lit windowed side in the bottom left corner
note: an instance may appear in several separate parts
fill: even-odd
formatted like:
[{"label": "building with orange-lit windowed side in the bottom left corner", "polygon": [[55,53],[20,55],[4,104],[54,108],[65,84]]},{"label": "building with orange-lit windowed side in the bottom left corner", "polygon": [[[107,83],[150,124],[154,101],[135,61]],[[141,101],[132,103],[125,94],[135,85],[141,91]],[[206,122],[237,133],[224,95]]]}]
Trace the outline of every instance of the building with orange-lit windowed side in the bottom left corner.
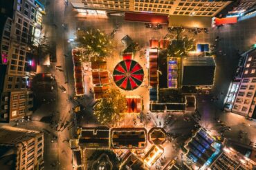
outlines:
[{"label": "building with orange-lit windowed side in the bottom left corner", "polygon": [[17,127],[0,128],[0,167],[44,169],[44,134]]}]

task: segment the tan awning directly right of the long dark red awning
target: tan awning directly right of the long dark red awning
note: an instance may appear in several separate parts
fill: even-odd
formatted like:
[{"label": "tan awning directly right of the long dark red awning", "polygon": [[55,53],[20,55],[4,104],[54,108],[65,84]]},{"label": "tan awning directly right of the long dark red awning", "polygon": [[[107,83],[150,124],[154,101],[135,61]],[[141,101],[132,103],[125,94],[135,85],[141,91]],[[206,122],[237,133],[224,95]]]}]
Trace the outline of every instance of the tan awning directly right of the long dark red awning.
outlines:
[{"label": "tan awning directly right of the long dark red awning", "polygon": [[185,15],[170,15],[169,27],[184,27],[184,28],[211,28],[212,17],[185,16]]}]

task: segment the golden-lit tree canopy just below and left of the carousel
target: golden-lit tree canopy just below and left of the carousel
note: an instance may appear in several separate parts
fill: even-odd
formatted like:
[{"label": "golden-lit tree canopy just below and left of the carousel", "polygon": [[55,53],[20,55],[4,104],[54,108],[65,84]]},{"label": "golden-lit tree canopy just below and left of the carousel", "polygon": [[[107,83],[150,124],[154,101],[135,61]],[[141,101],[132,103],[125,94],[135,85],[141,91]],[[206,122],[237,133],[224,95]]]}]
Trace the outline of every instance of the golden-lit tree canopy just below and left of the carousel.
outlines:
[{"label": "golden-lit tree canopy just below and left of the carousel", "polygon": [[110,88],[105,92],[107,98],[99,99],[94,106],[94,115],[102,125],[115,123],[120,120],[127,108],[125,95],[119,89]]}]

